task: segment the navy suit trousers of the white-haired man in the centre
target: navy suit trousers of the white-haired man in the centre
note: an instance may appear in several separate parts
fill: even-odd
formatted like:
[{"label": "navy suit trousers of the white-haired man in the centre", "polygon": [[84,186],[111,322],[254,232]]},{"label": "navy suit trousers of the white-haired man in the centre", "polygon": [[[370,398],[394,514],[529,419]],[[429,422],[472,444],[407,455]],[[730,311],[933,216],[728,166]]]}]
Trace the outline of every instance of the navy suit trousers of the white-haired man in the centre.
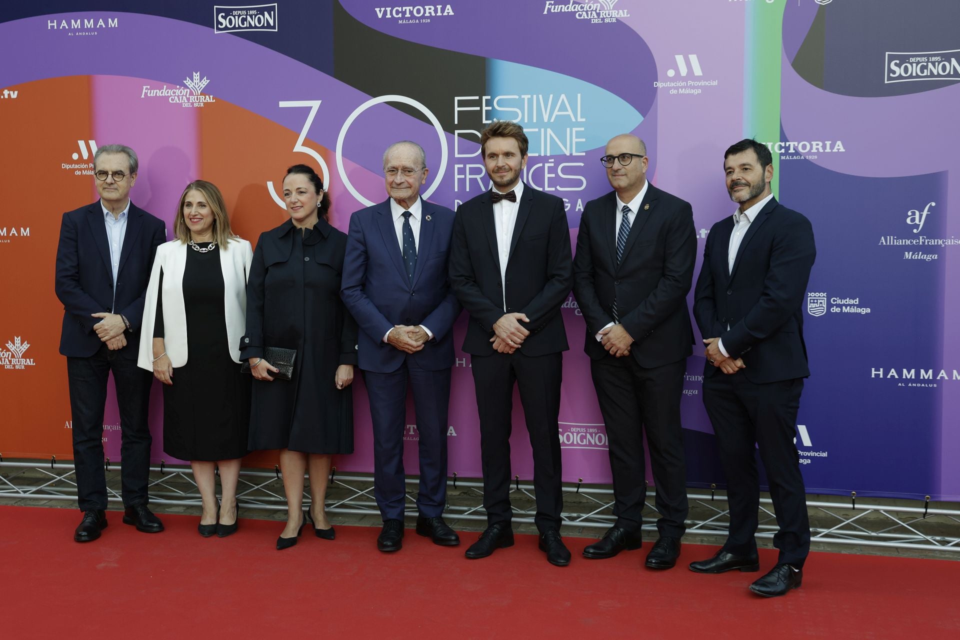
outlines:
[{"label": "navy suit trousers of the white-haired man in the centre", "polygon": [[446,430],[450,369],[428,371],[412,358],[391,373],[364,371],[373,422],[373,495],[384,520],[402,520],[406,485],[403,434],[407,384],[414,393],[420,434],[420,492],[417,510],[426,517],[444,514],[446,504]]}]

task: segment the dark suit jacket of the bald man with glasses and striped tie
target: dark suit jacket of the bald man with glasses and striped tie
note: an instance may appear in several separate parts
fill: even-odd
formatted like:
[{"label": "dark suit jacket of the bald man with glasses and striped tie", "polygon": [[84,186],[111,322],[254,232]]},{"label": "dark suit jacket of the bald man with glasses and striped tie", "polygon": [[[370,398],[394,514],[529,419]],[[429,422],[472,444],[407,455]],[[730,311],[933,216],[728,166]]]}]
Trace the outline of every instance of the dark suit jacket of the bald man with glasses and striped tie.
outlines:
[{"label": "dark suit jacket of the bald man with glasses and striped tie", "polygon": [[593,360],[607,354],[596,333],[613,321],[636,341],[640,367],[662,367],[693,352],[686,294],[693,283],[697,238],[688,202],[650,184],[616,262],[616,192],[589,201],[580,219],[573,260],[573,294],[587,320],[584,350]]}]

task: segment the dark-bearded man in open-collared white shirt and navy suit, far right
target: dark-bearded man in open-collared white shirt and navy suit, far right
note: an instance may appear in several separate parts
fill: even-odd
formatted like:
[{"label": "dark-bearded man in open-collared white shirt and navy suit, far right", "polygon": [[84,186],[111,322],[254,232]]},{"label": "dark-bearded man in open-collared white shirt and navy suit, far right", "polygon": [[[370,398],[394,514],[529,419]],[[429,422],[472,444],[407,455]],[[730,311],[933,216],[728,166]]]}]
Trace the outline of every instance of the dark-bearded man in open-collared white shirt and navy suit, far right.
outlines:
[{"label": "dark-bearded man in open-collared white shirt and navy suit, far right", "polygon": [[[770,150],[741,140],[724,155],[727,191],[739,206],[710,229],[693,315],[707,344],[704,405],[727,475],[730,531],[698,573],[757,571],[759,486],[755,451],[767,472],[780,530],[777,565],[750,585],[760,596],[800,586],[810,551],[797,411],[810,375],[803,302],[816,257],[813,229],[770,192]],[[755,447],[756,444],[756,447]]]}]

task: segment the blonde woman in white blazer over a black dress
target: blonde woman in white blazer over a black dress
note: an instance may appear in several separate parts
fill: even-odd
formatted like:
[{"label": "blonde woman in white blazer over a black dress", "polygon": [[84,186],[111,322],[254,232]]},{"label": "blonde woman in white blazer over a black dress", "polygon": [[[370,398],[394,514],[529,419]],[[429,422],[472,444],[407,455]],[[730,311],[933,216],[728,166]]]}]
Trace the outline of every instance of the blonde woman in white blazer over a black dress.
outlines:
[{"label": "blonde woman in white blazer over a black dress", "polygon": [[251,376],[240,372],[239,346],[253,254],[205,180],[183,190],[174,233],[156,249],[137,364],[164,384],[163,451],[193,467],[204,503],[198,531],[225,537],[237,529],[237,478],[248,453]]}]

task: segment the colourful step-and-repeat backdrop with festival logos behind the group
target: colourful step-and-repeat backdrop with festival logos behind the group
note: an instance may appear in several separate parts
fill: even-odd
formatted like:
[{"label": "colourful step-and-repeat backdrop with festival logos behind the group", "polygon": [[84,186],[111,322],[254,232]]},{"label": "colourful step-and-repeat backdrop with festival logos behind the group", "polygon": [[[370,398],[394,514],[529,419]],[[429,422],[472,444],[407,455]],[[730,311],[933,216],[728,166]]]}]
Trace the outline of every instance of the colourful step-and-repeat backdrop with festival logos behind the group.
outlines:
[{"label": "colourful step-and-repeat backdrop with festival logos behind the group", "polygon": [[[955,0],[5,5],[0,454],[71,458],[54,262],[60,214],[96,200],[98,146],[137,151],[132,201],[168,228],[183,186],[204,178],[223,191],[236,231],[255,241],[286,218],[278,193],[287,166],[321,172],[331,222],[346,230],[353,211],[385,200],[382,153],[401,139],[426,150],[424,196],[456,208],[489,188],[479,131],[508,119],[530,138],[527,183],[566,201],[571,242],[584,204],[610,189],[599,158],[613,135],[646,141],[648,178],[693,204],[701,247],[734,209],[724,150],[743,137],[767,144],[777,197],[812,221],[817,239],[804,300],[813,374],[797,425],[808,490],[960,499],[957,24]],[[607,483],[608,441],[572,295],[563,314],[564,480]],[[464,330],[461,318],[457,344]],[[448,442],[460,477],[480,475],[469,367],[458,352]],[[684,386],[689,481],[723,486],[703,367],[691,357]],[[112,393],[104,440],[118,461]],[[362,381],[354,401],[356,452],[335,464],[370,471]],[[526,479],[530,446],[516,407],[513,465]],[[162,451],[161,411],[155,383],[153,455],[175,463]],[[407,422],[416,472],[412,406]]]}]

